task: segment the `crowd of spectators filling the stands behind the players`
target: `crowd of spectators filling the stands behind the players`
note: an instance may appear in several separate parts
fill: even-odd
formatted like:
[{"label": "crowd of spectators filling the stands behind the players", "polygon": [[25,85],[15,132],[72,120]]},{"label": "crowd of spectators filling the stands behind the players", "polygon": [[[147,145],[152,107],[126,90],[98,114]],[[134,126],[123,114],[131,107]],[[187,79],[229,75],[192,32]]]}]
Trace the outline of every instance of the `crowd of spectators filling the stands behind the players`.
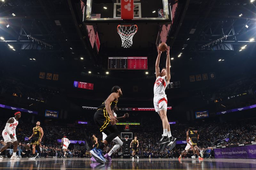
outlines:
[{"label": "crowd of spectators filling the stands behind the players", "polygon": [[[0,128],[4,129],[6,120],[1,120]],[[256,120],[243,120],[240,122],[225,122],[225,123],[209,123],[207,126],[204,124],[198,124],[194,128],[200,131],[199,147],[201,148],[201,155],[204,158],[213,157],[213,150],[209,147],[243,144],[256,141]],[[17,156],[30,157],[31,150],[29,141],[25,141],[25,137],[29,137],[32,134],[32,128],[35,123],[31,123],[28,120],[19,120],[19,125],[16,129],[17,139],[20,142],[18,146]],[[171,127],[172,135],[177,140],[186,140],[186,130],[189,124],[177,124]],[[68,157],[71,158],[90,158],[89,151],[92,149],[93,139],[92,134],[96,134],[98,141],[102,141],[102,134],[94,125],[86,125],[85,128],[70,127],[67,125],[58,126],[50,124],[42,124],[44,130],[44,137],[41,144],[41,149],[38,152],[40,157],[63,157],[63,152],[60,147],[60,143],[57,139],[61,139],[63,134],[66,134],[70,140],[83,140],[86,144],[76,144],[80,148],[74,148],[73,144],[70,144],[68,149]],[[120,130],[121,131],[121,130]],[[167,147],[162,149],[162,146],[157,145],[156,142],[161,135],[162,129],[159,127],[143,127],[132,129],[133,136],[137,136],[139,140],[139,152],[140,158],[173,158],[178,157],[184,148],[175,147],[172,151]],[[160,133],[160,135],[159,135]],[[79,134],[79,135],[78,135]],[[224,140],[227,139],[228,140]],[[125,145],[125,140],[123,140]],[[130,146],[131,140],[128,140]],[[104,149],[104,153],[110,151],[115,143],[110,143]],[[123,145],[123,146],[124,146]],[[4,141],[0,142],[0,148],[4,146]],[[87,146],[87,147],[86,147]],[[1,153],[3,156],[11,156],[13,152],[13,145],[10,146],[5,152]],[[185,156],[190,157],[193,152],[189,151]],[[119,148],[112,154],[113,158],[121,158],[123,154],[123,148]]]}]

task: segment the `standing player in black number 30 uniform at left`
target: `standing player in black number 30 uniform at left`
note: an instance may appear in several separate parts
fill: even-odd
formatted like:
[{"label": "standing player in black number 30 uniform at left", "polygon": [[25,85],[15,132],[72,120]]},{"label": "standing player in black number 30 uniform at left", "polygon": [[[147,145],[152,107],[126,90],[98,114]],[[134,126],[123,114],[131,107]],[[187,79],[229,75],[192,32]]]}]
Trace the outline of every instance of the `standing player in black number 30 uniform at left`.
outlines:
[{"label": "standing player in black number 30 uniform at left", "polygon": [[[39,143],[42,141],[42,138],[44,136],[43,128],[40,127],[40,122],[36,122],[36,127],[33,128],[33,134],[28,139],[31,139],[30,145],[32,145],[32,157],[29,159],[35,159],[39,155],[40,147]],[[36,153],[37,150],[37,153]]]}]

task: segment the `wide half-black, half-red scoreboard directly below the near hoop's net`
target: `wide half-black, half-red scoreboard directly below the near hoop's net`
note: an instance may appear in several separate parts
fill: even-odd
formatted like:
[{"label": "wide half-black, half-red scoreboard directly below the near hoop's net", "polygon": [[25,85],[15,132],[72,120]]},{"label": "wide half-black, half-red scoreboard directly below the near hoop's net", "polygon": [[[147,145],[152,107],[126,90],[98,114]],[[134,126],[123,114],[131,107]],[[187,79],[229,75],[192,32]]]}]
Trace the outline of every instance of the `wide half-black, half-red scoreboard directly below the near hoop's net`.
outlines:
[{"label": "wide half-black, half-red scoreboard directly below the near hoop's net", "polygon": [[108,69],[148,70],[148,57],[108,57]]}]

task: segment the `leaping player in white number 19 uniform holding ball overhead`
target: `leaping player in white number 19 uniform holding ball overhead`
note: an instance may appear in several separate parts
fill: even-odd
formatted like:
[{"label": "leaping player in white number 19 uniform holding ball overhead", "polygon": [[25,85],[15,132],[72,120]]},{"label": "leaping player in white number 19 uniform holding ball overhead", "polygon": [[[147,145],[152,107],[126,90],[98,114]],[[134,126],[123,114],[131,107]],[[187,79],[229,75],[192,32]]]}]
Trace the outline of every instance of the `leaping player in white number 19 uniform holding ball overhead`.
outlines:
[{"label": "leaping player in white number 19 uniform holding ball overhead", "polygon": [[169,143],[168,146],[172,145],[176,140],[175,137],[172,137],[170,124],[167,119],[167,97],[165,94],[165,89],[170,82],[171,73],[170,73],[170,47],[168,46],[167,51],[167,58],[166,58],[166,68],[163,68],[161,73],[159,69],[159,61],[161,56],[161,51],[158,50],[158,55],[156,58],[156,82],[154,84],[154,107],[156,112],[161,117],[163,122],[163,135],[162,138],[157,142],[157,144],[164,144]]}]

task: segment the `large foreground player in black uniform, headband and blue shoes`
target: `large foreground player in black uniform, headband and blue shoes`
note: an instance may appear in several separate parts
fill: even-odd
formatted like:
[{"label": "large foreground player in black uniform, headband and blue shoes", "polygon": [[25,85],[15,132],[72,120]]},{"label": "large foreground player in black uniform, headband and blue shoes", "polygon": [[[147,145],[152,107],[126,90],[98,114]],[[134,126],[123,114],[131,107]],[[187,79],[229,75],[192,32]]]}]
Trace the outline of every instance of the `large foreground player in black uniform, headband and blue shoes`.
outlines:
[{"label": "large foreground player in black uniform, headband and blue shoes", "polygon": [[107,137],[99,144],[97,148],[93,148],[90,153],[93,158],[99,163],[106,163],[106,159],[102,156],[102,150],[107,146],[114,138],[118,136],[118,130],[116,123],[118,120],[114,117],[112,110],[116,106],[119,97],[122,97],[123,93],[119,86],[114,86],[111,89],[111,94],[108,96],[97,109],[94,114],[94,122],[100,128],[100,132],[104,132]]}]

